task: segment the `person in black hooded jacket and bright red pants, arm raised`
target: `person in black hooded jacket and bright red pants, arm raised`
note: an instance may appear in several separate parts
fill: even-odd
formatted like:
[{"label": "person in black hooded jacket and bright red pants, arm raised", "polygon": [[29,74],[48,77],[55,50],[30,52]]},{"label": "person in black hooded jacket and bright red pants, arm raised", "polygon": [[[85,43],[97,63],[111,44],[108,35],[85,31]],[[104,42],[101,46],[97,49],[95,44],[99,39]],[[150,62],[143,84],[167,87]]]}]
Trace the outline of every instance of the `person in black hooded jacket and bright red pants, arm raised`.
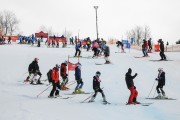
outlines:
[{"label": "person in black hooded jacket and bright red pants, arm raised", "polygon": [[132,69],[129,68],[128,72],[125,75],[127,88],[131,92],[127,104],[140,104],[140,102],[137,101],[138,91],[136,90],[136,87],[134,86],[134,82],[133,82],[133,79],[137,76],[137,73],[135,73],[134,76],[131,76],[131,73],[132,73]]}]

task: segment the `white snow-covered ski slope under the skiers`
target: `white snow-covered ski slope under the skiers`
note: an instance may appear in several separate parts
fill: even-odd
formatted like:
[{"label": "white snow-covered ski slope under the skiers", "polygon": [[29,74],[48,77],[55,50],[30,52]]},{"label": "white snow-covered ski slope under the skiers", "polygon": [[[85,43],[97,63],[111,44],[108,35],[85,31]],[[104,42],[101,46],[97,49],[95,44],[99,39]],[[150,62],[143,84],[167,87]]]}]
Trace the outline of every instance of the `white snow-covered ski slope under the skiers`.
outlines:
[{"label": "white snow-covered ski slope under the skiers", "polygon": [[[73,95],[70,99],[49,99],[52,87],[38,98],[40,92],[46,89],[46,85],[32,86],[22,81],[27,77],[29,63],[38,57],[42,80],[46,79],[47,71],[55,64],[61,64],[68,59],[68,55],[74,55],[74,47],[69,48],[42,48],[29,45],[4,45],[0,46],[0,120],[179,120],[180,119],[180,53],[165,53],[168,59],[174,61],[152,62],[160,59],[159,53],[149,54],[149,58],[134,58],[142,56],[141,51],[131,49],[126,53],[115,53],[115,46],[110,46],[110,59],[113,64],[95,65],[104,63],[105,60],[81,58],[82,79],[84,91],[93,92],[92,77],[97,70],[101,71],[101,87],[111,105],[101,104],[100,94],[94,103],[80,103],[89,95]],[[92,55],[92,52],[82,50],[82,56]],[[70,62],[76,63],[77,59],[70,58]],[[155,101],[145,99],[157,77],[157,69],[162,67],[166,72],[166,86],[164,90],[168,97],[177,98],[172,101]],[[131,105],[125,103],[129,97],[129,90],[125,84],[125,73],[132,68],[132,74],[138,73],[134,79],[139,91],[138,101],[152,102],[150,106]],[[74,72],[69,72],[70,81],[74,80]],[[65,95],[72,93],[75,84],[70,86],[70,91],[62,91]],[[155,86],[151,97],[154,96]],[[157,95],[157,94],[156,94]]]}]

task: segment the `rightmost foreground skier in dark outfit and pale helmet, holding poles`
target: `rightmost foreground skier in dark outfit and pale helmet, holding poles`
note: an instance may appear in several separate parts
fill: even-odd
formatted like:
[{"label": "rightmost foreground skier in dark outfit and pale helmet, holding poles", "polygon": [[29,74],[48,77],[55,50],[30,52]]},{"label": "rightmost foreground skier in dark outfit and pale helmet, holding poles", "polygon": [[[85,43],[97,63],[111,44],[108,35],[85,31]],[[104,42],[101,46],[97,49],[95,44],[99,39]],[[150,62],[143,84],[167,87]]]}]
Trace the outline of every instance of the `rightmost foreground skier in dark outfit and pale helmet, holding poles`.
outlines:
[{"label": "rightmost foreground skier in dark outfit and pale helmet, holding poles", "polygon": [[[156,97],[157,99],[161,99],[161,98],[167,98],[166,95],[165,95],[165,92],[163,90],[163,86],[165,85],[165,72],[163,71],[162,68],[159,68],[158,69],[158,77],[155,79],[158,81],[158,85],[156,87],[156,90],[157,90],[157,93],[158,93],[158,96]],[[160,92],[160,90],[161,92]],[[162,93],[162,96],[161,96],[161,93]]]}]

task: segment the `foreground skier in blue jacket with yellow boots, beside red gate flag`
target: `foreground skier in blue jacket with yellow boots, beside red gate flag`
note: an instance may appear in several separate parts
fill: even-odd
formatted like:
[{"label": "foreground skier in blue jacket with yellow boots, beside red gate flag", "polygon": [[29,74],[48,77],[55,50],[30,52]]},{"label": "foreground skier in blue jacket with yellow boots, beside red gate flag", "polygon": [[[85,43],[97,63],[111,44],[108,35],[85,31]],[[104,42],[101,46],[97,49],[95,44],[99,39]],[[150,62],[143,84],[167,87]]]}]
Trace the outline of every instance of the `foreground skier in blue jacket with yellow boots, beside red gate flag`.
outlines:
[{"label": "foreground skier in blue jacket with yellow boots, beside red gate flag", "polygon": [[82,87],[84,85],[82,78],[81,78],[81,64],[78,63],[76,68],[75,68],[75,80],[77,82],[75,91],[73,93],[78,94],[78,93],[83,93]]}]

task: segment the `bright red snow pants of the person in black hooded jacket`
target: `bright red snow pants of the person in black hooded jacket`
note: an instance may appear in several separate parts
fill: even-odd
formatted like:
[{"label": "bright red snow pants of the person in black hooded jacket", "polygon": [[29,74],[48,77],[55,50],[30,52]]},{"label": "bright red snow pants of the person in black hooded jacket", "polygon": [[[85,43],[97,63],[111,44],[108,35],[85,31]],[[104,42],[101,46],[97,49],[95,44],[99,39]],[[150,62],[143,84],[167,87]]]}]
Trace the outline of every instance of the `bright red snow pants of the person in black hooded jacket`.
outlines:
[{"label": "bright red snow pants of the person in black hooded jacket", "polygon": [[138,91],[135,89],[134,86],[128,88],[131,92],[130,96],[129,96],[129,100],[128,100],[128,103],[132,103],[132,102],[135,102],[137,96],[138,96]]}]

